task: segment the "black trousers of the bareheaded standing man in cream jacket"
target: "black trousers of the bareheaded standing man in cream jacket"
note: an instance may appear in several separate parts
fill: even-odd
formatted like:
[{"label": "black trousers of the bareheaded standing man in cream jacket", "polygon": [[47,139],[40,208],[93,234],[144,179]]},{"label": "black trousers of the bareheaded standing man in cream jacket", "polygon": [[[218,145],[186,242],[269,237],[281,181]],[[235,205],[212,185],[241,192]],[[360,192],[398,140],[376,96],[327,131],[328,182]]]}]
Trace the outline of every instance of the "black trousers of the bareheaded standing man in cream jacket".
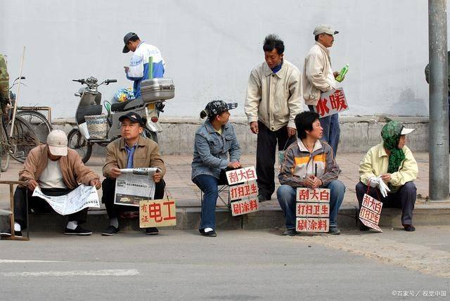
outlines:
[{"label": "black trousers of the bareheaded standing man in cream jacket", "polygon": [[[264,123],[258,121],[258,140],[256,148],[256,173],[258,175],[257,184],[259,195],[270,200],[275,191],[275,159],[276,144],[278,151],[288,147],[296,139],[296,136],[288,138],[288,127],[282,127],[277,131],[271,131]],[[287,142],[287,143],[286,143]]]}]

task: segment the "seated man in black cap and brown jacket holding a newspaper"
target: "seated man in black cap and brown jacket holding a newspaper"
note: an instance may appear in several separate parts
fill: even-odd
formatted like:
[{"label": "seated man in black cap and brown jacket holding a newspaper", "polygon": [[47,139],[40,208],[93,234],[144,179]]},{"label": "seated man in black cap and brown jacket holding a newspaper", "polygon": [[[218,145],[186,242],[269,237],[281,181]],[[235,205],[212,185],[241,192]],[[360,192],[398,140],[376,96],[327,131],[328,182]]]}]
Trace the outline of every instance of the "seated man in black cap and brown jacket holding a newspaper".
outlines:
[{"label": "seated man in black cap and brown jacket holding a newspaper", "polygon": [[[139,210],[139,207],[114,204],[115,179],[120,176],[120,169],[157,167],[160,172],[153,174],[153,181],[156,184],[154,199],[158,200],[164,197],[165,182],[162,177],[165,175],[166,167],[161,158],[158,143],[141,135],[146,119],[137,113],[129,112],[122,115],[119,121],[122,122],[122,138],[111,142],[106,147],[106,161],[103,166],[105,179],[102,183],[102,202],[105,203],[110,218],[110,226],[102,233],[105,236],[119,232],[117,217],[120,212]],[[158,229],[146,228],[146,234],[156,235]]]}]

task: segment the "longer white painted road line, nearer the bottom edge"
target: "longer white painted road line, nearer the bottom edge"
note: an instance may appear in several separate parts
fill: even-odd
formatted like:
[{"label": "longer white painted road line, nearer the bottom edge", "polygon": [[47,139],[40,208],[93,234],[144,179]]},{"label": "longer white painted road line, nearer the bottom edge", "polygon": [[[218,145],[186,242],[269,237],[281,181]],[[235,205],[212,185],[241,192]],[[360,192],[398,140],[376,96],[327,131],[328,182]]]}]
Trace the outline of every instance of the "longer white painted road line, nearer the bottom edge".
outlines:
[{"label": "longer white painted road line, nearer the bottom edge", "polygon": [[0,273],[0,277],[40,277],[40,276],[134,276],[137,269],[99,269],[86,271],[10,271]]}]

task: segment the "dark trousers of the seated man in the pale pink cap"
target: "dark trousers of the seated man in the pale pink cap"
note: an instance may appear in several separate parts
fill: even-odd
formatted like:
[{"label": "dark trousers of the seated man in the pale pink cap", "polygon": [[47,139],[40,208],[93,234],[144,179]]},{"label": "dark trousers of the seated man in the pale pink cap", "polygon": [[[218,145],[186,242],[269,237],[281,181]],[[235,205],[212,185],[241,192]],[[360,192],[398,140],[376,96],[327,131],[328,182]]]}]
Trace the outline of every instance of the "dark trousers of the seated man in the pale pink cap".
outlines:
[{"label": "dark trousers of the seated man in the pale pink cap", "polygon": [[[47,196],[63,196],[70,193],[72,190],[65,188],[41,188],[41,191]],[[18,186],[18,188],[15,188],[14,192],[14,219],[15,222],[20,224],[22,229],[27,228],[27,203],[25,203],[27,193],[28,213],[56,213],[46,200],[38,198],[37,196],[32,196],[32,191],[29,191],[25,187]],[[78,224],[83,224],[86,222],[87,210],[88,208],[84,208],[79,212],[68,214],[67,217],[69,222],[76,221]]]}]

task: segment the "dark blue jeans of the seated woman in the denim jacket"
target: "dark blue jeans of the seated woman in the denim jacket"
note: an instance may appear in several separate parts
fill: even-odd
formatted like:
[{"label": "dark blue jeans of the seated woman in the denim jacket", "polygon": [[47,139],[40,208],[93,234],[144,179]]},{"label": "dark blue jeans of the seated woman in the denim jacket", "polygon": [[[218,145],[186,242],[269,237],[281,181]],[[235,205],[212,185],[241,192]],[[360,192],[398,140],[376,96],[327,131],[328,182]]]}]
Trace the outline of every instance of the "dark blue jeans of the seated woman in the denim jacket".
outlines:
[{"label": "dark blue jeans of the seated woman in the denim jacket", "polygon": [[219,179],[210,174],[199,174],[192,180],[203,191],[202,214],[199,229],[216,226],[216,203],[219,196]]}]

